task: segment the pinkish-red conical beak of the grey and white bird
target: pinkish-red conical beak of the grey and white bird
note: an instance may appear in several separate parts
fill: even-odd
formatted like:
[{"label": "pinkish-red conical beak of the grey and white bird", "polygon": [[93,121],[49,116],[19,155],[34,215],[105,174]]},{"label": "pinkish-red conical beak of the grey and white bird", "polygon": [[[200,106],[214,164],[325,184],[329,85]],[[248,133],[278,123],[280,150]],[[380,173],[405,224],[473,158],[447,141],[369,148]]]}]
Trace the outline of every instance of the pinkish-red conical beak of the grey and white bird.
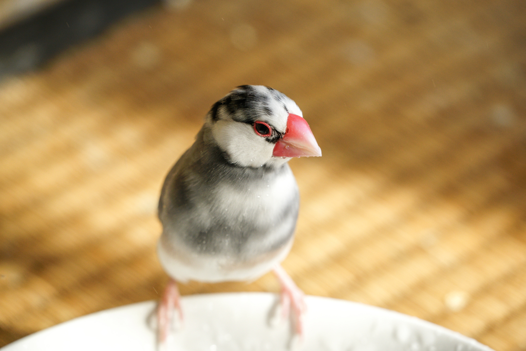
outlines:
[{"label": "pinkish-red conical beak of the grey and white bird", "polygon": [[274,146],[274,156],[302,157],[321,156],[321,149],[304,118],[289,114],[287,131]]}]

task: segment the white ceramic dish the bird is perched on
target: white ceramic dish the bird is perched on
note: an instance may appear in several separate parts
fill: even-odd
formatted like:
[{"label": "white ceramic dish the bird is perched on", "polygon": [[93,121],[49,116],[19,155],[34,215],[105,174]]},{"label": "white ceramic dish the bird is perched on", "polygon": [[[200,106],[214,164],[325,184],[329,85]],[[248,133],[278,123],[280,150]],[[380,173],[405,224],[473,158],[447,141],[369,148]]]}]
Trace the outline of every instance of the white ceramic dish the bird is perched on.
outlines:
[{"label": "white ceramic dish the bird is perched on", "polygon": [[[275,294],[266,293],[185,296],[184,325],[169,349],[285,351],[289,323],[268,323],[276,302]],[[303,351],[491,351],[451,330],[377,307],[313,296],[307,306]],[[155,333],[146,322],[154,308],[154,302],[144,302],[76,318],[2,351],[154,351]]]}]

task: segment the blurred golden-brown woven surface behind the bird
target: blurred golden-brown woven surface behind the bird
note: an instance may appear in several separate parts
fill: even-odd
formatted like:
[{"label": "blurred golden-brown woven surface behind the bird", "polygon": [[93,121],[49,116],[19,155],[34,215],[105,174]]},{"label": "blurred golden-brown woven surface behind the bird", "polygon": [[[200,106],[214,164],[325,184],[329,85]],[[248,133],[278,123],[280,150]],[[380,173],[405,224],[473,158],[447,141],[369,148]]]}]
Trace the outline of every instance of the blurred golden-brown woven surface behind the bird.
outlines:
[{"label": "blurred golden-brown woven surface behind the bird", "polygon": [[159,297],[161,183],[241,84],[295,99],[323,151],[290,162],[307,294],[526,350],[524,0],[180,0],[4,81],[0,346]]}]

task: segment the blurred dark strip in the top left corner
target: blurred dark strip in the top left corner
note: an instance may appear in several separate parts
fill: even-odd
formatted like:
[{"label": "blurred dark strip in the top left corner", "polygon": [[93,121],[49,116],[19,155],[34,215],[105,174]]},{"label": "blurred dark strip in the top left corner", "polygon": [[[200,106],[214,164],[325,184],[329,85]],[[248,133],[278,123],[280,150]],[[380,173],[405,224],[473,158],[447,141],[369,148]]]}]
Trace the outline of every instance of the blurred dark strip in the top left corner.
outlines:
[{"label": "blurred dark strip in the top left corner", "polygon": [[0,81],[33,71],[70,46],[159,0],[69,0],[50,6],[0,32]]}]

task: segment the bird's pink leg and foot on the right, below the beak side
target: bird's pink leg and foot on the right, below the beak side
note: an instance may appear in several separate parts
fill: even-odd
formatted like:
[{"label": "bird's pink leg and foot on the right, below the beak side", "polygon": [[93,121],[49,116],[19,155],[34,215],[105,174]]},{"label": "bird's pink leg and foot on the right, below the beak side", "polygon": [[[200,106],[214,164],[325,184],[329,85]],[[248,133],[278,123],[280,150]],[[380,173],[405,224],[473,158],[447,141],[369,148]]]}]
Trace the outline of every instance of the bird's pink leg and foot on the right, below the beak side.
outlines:
[{"label": "bird's pink leg and foot on the right, below the beak side", "polygon": [[292,307],[292,320],[294,320],[294,330],[300,337],[303,335],[302,316],[307,310],[305,304],[305,294],[298,288],[290,276],[285,272],[281,266],[274,268],[274,274],[281,283],[281,308],[283,316],[289,314],[289,309]]}]

